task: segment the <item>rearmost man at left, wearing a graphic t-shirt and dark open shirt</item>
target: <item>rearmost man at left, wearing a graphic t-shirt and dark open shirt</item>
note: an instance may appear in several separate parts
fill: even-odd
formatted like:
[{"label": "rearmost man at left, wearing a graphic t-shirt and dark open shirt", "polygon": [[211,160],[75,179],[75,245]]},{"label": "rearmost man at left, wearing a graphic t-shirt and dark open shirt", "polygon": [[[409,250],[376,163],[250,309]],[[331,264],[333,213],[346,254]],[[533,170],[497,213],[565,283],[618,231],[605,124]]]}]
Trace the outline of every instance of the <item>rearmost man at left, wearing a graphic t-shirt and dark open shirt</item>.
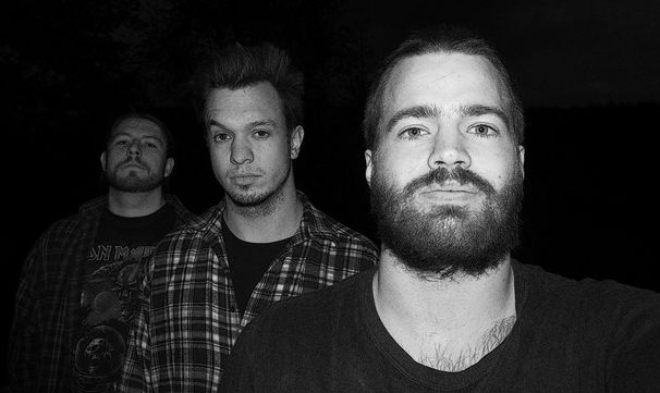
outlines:
[{"label": "rearmost man at left, wearing a graphic t-shirt and dark open shirt", "polygon": [[52,224],[25,260],[11,331],[12,392],[113,391],[156,244],[193,214],[163,192],[173,140],[146,113],[110,127],[108,193]]}]

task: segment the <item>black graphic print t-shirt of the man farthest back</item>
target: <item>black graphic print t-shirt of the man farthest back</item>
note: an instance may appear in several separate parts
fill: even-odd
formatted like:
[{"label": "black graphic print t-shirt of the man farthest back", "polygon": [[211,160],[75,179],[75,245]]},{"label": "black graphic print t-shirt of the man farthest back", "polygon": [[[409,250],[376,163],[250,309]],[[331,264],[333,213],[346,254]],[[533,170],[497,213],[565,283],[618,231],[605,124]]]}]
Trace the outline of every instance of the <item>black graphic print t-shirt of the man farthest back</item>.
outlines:
[{"label": "black graphic print t-shirt of the man farthest back", "polygon": [[125,218],[106,211],[89,250],[81,295],[74,376],[80,392],[112,392],[131,322],[139,308],[142,269],[176,214],[164,205],[152,214]]}]

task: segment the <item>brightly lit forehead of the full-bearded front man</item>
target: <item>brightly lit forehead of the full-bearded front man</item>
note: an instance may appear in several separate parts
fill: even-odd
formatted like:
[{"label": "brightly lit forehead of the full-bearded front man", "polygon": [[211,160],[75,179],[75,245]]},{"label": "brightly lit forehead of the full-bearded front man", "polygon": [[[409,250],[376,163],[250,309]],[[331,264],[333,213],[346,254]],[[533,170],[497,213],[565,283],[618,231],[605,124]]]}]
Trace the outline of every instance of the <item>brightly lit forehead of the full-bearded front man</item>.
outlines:
[{"label": "brightly lit forehead of the full-bearded front man", "polygon": [[419,105],[433,105],[442,112],[467,105],[502,108],[496,75],[492,64],[479,56],[440,52],[404,59],[384,89],[386,118]]}]

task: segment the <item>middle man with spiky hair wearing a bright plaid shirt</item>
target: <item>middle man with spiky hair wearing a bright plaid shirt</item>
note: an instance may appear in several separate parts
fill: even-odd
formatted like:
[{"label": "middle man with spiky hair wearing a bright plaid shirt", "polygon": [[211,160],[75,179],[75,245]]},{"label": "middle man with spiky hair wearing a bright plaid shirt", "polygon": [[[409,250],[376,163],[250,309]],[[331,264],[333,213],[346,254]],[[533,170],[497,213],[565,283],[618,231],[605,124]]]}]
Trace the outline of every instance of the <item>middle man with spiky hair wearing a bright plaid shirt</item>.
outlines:
[{"label": "middle man with spiky hair wearing a bright plaid shirt", "polygon": [[371,241],[295,188],[303,77],[286,53],[231,46],[204,75],[205,138],[225,197],[157,247],[120,391],[215,391],[239,333],[260,311],[377,259]]}]

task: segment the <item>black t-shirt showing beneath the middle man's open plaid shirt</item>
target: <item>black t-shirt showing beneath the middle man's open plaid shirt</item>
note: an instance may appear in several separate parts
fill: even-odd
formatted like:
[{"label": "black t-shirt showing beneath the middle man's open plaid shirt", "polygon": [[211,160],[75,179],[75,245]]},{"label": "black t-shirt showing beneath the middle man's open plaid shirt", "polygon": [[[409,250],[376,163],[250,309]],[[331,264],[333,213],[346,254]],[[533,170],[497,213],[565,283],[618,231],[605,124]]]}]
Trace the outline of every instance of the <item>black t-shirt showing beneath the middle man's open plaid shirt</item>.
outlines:
[{"label": "black t-shirt showing beneath the middle man's open plaid shirt", "polygon": [[270,263],[284,251],[291,237],[271,243],[245,242],[236,237],[222,219],[222,238],[237,307],[241,312],[244,312],[253,290]]}]

